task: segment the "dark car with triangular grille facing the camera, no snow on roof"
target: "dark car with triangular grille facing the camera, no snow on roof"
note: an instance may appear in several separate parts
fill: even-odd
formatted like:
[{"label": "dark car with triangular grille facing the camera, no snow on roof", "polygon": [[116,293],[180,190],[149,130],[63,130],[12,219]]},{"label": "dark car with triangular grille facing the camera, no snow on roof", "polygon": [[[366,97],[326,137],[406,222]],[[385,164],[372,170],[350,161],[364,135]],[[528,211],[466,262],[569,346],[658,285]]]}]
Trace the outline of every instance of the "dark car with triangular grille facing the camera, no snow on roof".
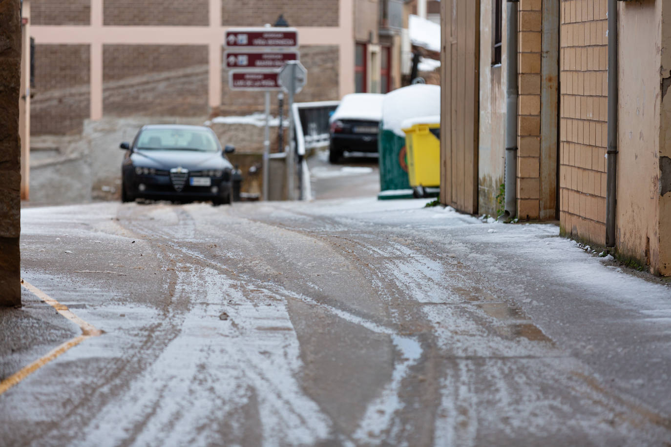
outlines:
[{"label": "dark car with triangular grille facing the camera, no snow on roof", "polygon": [[230,204],[233,166],[217,135],[203,126],[146,125],[133,143],[121,143],[121,201],[211,200]]}]

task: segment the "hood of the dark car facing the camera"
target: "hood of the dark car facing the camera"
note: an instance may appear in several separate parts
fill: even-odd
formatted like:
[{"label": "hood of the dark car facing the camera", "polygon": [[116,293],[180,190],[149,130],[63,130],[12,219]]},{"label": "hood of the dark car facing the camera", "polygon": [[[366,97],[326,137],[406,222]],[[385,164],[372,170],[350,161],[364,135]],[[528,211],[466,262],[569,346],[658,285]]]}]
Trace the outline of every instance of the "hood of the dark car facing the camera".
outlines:
[{"label": "hood of the dark car facing the camera", "polygon": [[144,168],[170,170],[172,168],[185,168],[190,171],[203,169],[225,169],[232,168],[231,163],[221,156],[221,152],[199,152],[199,151],[160,151],[156,149],[136,149],[131,159],[133,164]]}]

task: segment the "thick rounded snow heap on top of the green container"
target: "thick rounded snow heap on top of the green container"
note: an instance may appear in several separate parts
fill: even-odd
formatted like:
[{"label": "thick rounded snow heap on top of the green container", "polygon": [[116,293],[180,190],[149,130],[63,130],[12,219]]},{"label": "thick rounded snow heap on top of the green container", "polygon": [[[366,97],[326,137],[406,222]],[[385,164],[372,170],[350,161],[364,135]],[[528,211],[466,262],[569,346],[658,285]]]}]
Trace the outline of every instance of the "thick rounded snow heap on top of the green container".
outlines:
[{"label": "thick rounded snow heap on top of the green container", "polygon": [[414,84],[397,88],[384,95],[382,129],[405,138],[405,120],[435,115],[440,115],[440,86]]}]

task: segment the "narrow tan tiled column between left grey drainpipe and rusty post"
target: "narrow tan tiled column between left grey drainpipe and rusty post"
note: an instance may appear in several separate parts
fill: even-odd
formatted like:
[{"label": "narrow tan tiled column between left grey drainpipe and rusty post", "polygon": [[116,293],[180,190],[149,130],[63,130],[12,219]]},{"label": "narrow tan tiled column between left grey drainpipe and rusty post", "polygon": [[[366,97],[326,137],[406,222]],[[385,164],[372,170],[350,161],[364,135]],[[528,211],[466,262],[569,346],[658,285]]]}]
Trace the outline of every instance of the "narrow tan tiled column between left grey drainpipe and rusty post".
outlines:
[{"label": "narrow tan tiled column between left grey drainpipe and rusty post", "polygon": [[539,218],[541,147],[541,2],[519,3],[517,214]]}]

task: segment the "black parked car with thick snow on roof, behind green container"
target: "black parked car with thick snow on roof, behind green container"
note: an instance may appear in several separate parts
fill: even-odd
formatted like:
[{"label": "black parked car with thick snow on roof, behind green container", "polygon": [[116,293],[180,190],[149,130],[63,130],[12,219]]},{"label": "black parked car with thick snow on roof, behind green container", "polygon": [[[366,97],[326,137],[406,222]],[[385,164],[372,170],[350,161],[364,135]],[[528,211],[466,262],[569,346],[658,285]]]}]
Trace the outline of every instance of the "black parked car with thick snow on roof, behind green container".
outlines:
[{"label": "black parked car with thick snow on roof, behind green container", "polygon": [[378,127],[382,119],[379,93],[345,95],[329,119],[329,162],[338,163],[345,151],[377,153]]}]

